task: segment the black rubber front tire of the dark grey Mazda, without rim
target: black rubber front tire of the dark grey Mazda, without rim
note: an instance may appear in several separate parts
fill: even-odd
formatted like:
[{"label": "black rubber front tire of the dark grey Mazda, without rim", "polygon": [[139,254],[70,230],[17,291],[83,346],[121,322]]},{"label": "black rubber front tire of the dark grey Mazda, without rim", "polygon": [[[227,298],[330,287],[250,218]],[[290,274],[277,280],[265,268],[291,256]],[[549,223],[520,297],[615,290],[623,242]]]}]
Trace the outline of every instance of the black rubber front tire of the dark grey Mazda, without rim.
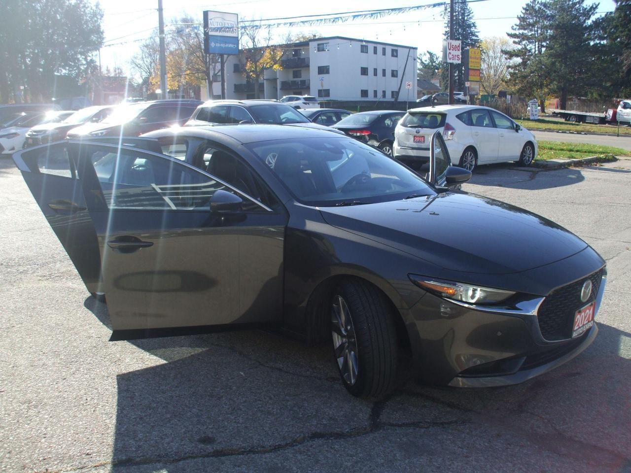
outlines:
[{"label": "black rubber front tire of the dark grey Mazda, without rim", "polygon": [[[334,305],[339,297],[346,303],[355,335],[357,371],[354,382],[345,378],[341,365],[343,362],[336,355],[333,320],[336,317]],[[399,349],[394,314],[386,297],[377,288],[360,279],[346,279],[333,289],[329,307],[333,358],[345,388],[357,397],[379,399],[391,393],[398,380]],[[351,335],[349,341],[350,337]]]}]

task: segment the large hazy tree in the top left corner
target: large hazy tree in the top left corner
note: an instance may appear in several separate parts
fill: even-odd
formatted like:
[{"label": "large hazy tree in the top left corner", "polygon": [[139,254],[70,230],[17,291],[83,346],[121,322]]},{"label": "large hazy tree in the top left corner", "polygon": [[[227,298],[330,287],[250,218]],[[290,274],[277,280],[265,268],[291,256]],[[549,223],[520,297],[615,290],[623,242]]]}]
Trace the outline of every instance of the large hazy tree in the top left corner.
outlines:
[{"label": "large hazy tree in the top left corner", "polygon": [[92,54],[103,43],[103,12],[90,0],[3,0],[0,17],[2,100],[19,102],[21,90],[49,100],[56,74],[85,79],[95,72]]}]

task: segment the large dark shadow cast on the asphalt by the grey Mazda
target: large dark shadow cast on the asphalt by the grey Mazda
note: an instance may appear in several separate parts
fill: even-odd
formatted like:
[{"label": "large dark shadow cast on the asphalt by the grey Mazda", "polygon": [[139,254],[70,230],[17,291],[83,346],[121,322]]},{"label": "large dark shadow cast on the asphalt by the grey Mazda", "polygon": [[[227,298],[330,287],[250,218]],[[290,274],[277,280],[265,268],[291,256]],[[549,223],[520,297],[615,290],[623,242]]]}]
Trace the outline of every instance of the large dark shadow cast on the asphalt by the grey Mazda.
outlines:
[{"label": "large dark shadow cast on the asphalt by the grey Mazda", "polygon": [[[109,325],[107,306],[91,298],[85,306]],[[463,449],[481,455],[480,439],[529,449],[541,471],[622,471],[631,467],[631,338],[608,325],[599,330],[577,358],[521,385],[468,390],[408,382],[377,402],[346,393],[328,347],[254,330],[131,341],[165,363],[117,375],[111,468],[252,471],[256,455],[300,458],[292,449],[326,450],[313,446],[326,441],[344,445],[346,458],[337,457],[344,466],[372,455],[358,438],[392,431],[408,440],[393,441],[403,463],[391,471],[409,469],[412,458],[418,465],[423,455],[445,462]],[[440,446],[425,448],[434,435]],[[269,471],[312,470],[272,460],[266,457]],[[514,461],[517,467],[521,460]]]}]

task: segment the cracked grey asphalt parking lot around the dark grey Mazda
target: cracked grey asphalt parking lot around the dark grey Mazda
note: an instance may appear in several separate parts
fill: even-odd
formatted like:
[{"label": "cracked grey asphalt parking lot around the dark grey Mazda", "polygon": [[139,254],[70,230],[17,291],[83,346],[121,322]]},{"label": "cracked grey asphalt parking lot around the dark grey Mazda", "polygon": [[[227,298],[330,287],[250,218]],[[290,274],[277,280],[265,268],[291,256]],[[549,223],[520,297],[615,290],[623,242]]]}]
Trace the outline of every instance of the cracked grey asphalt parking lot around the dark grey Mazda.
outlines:
[{"label": "cracked grey asphalt parking lot around the dark grey Mazda", "polygon": [[608,260],[599,335],[522,385],[410,382],[369,402],[346,393],[329,347],[265,332],[109,342],[107,306],[2,159],[0,470],[631,472],[630,184],[631,160],[481,166],[464,190],[557,221]]}]

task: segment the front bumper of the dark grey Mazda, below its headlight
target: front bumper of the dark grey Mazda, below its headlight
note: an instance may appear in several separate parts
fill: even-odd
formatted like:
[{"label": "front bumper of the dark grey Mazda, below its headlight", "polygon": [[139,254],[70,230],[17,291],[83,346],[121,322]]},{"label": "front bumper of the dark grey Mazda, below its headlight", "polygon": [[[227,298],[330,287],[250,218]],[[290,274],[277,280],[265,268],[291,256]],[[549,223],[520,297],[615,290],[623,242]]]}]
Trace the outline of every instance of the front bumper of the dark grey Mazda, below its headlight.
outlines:
[{"label": "front bumper of the dark grey Mazda, below its headlight", "polygon": [[[594,316],[606,275],[594,297]],[[422,382],[452,387],[493,387],[524,382],[580,354],[596,338],[594,325],[574,339],[548,341],[541,334],[534,297],[507,308],[479,308],[424,295],[406,325]],[[571,324],[571,322],[570,322]]]}]

